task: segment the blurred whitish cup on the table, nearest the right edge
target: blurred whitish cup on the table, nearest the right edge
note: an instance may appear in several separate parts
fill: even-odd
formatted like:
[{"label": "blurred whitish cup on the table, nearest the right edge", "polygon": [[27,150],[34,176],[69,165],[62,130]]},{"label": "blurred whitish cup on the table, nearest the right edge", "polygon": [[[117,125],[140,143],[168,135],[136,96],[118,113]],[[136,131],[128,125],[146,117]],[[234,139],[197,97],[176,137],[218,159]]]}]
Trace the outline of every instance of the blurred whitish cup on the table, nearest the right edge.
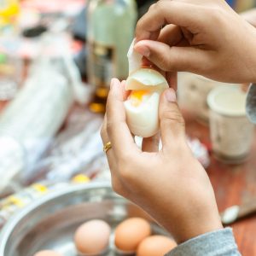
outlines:
[{"label": "blurred whitish cup on the table, nearest the right edge", "polygon": [[246,93],[239,85],[219,86],[211,90],[207,102],[213,153],[225,162],[246,160],[254,135],[246,115]]}]

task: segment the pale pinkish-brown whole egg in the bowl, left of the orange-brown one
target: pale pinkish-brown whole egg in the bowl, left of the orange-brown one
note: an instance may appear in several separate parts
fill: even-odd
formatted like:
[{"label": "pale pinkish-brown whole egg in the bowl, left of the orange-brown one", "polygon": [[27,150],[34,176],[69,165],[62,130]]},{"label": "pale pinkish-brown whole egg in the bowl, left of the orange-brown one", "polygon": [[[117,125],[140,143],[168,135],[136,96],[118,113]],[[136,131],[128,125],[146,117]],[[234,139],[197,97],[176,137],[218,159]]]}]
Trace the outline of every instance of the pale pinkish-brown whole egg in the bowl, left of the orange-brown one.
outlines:
[{"label": "pale pinkish-brown whole egg in the bowl, left of the orange-brown one", "polygon": [[93,219],[80,225],[74,235],[79,253],[99,255],[108,248],[111,228],[101,219]]}]

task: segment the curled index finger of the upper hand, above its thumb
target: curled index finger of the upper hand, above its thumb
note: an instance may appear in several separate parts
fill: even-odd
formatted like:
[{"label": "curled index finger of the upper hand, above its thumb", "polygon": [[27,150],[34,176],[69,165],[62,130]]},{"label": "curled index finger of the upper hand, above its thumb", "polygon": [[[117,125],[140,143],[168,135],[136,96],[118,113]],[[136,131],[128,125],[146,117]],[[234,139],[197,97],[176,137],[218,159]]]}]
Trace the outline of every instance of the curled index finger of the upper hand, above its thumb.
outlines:
[{"label": "curled index finger of the upper hand, above its thumb", "polygon": [[148,13],[137,22],[137,42],[143,39],[156,40],[161,28],[166,24],[184,26],[196,32],[201,24],[205,24],[205,9],[191,3],[176,1],[159,1],[154,3]]}]

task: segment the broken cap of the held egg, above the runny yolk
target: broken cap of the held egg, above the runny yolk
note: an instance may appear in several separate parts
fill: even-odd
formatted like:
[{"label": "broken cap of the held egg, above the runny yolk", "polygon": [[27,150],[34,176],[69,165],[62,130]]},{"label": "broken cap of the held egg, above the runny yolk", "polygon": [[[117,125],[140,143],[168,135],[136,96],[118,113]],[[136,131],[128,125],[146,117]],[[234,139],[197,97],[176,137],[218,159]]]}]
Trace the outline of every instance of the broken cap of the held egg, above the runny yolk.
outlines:
[{"label": "broken cap of the held egg, above the runny yolk", "polygon": [[145,67],[131,73],[125,83],[125,90],[165,90],[168,87],[161,73]]}]

